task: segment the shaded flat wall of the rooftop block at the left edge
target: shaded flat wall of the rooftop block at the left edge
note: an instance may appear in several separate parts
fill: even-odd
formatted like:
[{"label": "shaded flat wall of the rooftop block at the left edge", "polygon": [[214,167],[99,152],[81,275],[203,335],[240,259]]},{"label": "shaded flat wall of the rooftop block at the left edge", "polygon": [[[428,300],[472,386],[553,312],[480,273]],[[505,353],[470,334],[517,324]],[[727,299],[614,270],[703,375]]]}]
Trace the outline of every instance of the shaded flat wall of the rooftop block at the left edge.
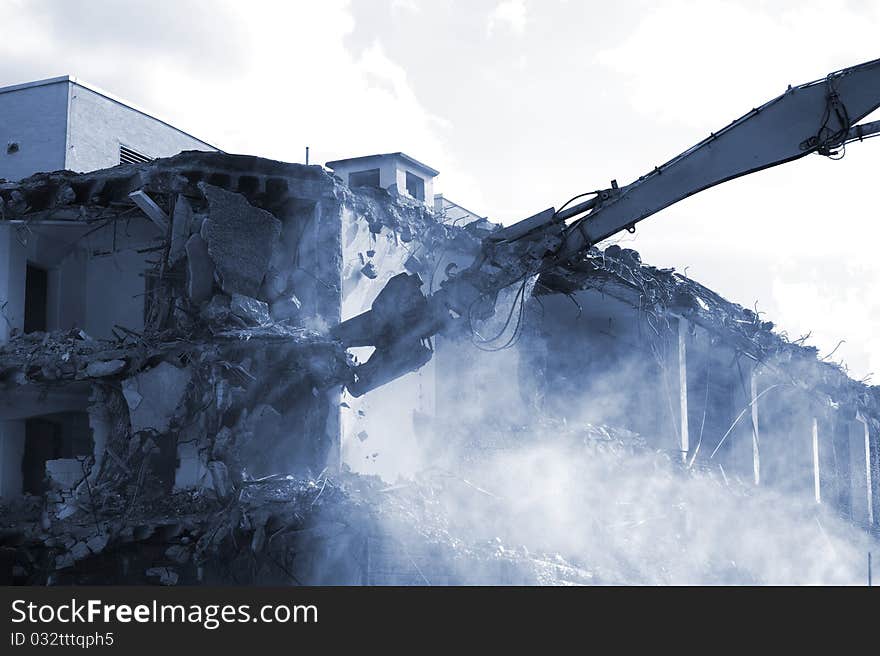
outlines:
[{"label": "shaded flat wall of the rooftop block at the left edge", "polygon": [[[0,178],[20,180],[64,168],[66,80],[0,93]],[[7,153],[11,142],[17,153]]]}]

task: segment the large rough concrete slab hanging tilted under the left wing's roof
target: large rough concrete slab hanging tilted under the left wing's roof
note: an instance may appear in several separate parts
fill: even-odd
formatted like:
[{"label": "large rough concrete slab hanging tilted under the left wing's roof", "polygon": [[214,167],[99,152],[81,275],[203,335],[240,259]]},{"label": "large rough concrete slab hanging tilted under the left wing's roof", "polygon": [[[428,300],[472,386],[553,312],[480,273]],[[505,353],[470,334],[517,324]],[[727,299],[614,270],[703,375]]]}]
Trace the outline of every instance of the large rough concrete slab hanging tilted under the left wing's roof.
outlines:
[{"label": "large rough concrete slab hanging tilted under the left wing's roof", "polygon": [[244,196],[201,183],[209,214],[202,236],[227,294],[256,297],[269,270],[281,221],[254,207]]}]

